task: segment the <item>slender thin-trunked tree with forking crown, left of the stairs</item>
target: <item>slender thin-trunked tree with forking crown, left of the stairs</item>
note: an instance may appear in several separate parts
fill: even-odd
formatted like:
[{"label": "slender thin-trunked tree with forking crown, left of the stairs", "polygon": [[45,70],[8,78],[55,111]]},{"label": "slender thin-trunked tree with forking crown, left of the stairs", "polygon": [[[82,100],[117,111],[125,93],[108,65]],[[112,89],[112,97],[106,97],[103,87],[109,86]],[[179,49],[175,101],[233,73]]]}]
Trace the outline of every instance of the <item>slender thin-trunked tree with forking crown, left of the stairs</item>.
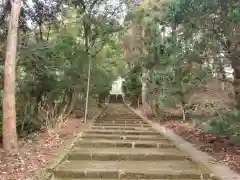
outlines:
[{"label": "slender thin-trunked tree with forking crown, left of the stairs", "polygon": [[[92,59],[102,50],[107,41],[121,27],[117,19],[123,11],[123,0],[118,0],[113,5],[109,0],[81,0],[72,2],[82,16],[83,39],[85,52],[88,57],[88,83],[86,93],[85,121],[88,112],[89,85],[91,77]],[[104,9],[102,11],[101,9]]]}]

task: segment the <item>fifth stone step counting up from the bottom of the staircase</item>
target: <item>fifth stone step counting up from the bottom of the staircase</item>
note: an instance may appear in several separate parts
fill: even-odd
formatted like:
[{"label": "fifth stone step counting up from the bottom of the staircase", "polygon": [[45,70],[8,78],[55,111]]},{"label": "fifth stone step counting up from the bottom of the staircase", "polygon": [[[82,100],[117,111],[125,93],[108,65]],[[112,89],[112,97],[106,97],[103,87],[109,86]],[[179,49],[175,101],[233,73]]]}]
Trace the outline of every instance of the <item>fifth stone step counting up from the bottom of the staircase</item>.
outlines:
[{"label": "fifth stone step counting up from the bottom of the staircase", "polygon": [[147,128],[137,130],[111,130],[111,129],[89,129],[88,134],[129,134],[129,135],[159,135]]}]

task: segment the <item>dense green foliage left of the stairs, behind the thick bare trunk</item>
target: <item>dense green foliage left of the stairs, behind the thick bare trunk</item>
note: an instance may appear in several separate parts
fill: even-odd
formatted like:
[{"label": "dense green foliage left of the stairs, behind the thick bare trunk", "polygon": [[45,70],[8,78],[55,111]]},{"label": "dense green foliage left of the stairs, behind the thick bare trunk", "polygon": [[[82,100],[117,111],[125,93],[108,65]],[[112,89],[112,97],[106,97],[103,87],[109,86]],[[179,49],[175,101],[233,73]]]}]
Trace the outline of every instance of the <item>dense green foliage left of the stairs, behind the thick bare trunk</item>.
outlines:
[{"label": "dense green foliage left of the stairs, behind the thick bare trunk", "polygon": [[[84,3],[89,7],[94,2]],[[22,20],[30,19],[36,27],[32,33],[20,33],[19,38],[16,105],[17,128],[23,136],[46,126],[55,127],[75,110],[76,103],[84,107],[88,53],[92,56],[90,99],[98,96],[99,100],[104,100],[113,80],[123,69],[117,34],[121,26],[115,14],[111,14],[114,8],[106,1],[99,1],[85,16],[79,6],[69,4],[63,8],[62,3],[34,0],[33,7],[23,6]],[[107,7],[106,12],[99,6]],[[60,16],[62,23],[58,23]],[[40,22],[38,18],[42,18]],[[88,46],[86,40],[89,40]],[[4,45],[0,50],[4,49],[2,47]],[[4,52],[0,53],[2,62]]]}]

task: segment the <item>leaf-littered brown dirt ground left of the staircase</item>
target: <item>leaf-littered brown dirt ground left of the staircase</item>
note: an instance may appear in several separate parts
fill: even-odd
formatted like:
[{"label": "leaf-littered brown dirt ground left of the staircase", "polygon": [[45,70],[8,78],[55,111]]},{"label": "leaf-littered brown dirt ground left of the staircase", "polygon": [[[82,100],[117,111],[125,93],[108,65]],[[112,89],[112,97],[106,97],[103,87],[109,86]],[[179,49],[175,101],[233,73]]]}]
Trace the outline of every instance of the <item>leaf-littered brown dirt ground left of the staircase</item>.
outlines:
[{"label": "leaf-littered brown dirt ground left of the staircase", "polygon": [[[37,172],[56,158],[58,151],[80,132],[83,119],[69,118],[59,130],[46,130],[34,139],[19,141],[19,154],[0,161],[1,180],[33,180]],[[0,152],[0,156],[1,153]]]}]

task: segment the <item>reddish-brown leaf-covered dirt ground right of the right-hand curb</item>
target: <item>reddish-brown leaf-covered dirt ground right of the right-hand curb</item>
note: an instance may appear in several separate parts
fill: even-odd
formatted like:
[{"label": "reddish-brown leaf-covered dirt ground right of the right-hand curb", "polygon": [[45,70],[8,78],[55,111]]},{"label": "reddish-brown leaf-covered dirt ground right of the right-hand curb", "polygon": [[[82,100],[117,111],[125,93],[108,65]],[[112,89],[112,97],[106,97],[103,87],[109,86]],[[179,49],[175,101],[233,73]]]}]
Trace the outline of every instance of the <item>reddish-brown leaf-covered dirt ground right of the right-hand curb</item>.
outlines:
[{"label": "reddish-brown leaf-covered dirt ground right of the right-hand curb", "polygon": [[240,148],[234,146],[227,139],[203,132],[201,129],[193,128],[190,123],[165,121],[161,125],[191,142],[199,150],[213,156],[218,163],[226,164],[232,170],[240,173]]}]

